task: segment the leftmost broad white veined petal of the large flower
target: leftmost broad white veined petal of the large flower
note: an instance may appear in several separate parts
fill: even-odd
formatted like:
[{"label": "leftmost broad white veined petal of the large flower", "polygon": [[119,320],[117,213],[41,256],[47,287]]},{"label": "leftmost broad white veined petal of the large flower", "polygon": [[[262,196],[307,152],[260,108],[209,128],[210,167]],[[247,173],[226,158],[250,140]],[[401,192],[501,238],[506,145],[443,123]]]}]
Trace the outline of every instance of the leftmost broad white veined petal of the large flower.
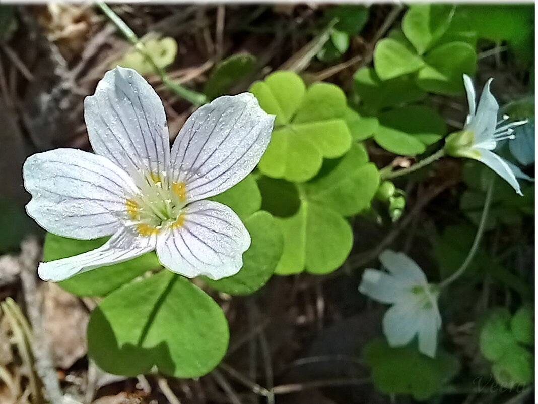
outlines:
[{"label": "leftmost broad white veined petal of the large flower", "polygon": [[110,235],[121,226],[129,175],[104,157],[76,149],[34,154],[23,166],[32,194],[26,212],[47,231],[76,239]]}]

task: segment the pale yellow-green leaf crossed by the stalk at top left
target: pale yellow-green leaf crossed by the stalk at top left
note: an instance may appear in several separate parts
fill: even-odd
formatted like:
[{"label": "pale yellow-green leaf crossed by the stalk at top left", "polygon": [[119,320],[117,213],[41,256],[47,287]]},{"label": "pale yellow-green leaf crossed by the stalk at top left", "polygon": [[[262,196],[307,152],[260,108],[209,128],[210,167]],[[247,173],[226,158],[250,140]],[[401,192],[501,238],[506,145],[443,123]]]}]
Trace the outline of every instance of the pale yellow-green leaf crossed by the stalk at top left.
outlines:
[{"label": "pale yellow-green leaf crossed by the stalk at top left", "polygon": [[[142,38],[141,43],[144,44],[147,53],[157,67],[165,68],[175,60],[178,53],[178,43],[172,37],[159,38],[150,35]],[[116,67],[116,65],[133,68],[142,75],[154,70],[150,62],[134,47],[131,47],[123,58],[112,62],[110,66]]]}]

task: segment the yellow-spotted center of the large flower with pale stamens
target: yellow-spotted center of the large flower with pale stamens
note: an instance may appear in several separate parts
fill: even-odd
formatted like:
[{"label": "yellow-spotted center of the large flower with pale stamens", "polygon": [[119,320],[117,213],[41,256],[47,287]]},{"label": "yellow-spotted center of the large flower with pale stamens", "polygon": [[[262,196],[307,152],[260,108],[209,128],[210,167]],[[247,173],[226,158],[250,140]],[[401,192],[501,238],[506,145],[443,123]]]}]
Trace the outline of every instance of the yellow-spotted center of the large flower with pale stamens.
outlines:
[{"label": "yellow-spotted center of the large flower with pale stamens", "polygon": [[184,182],[171,181],[168,173],[150,172],[138,182],[140,192],[125,201],[131,224],[140,235],[157,234],[163,227],[180,227],[185,222]]}]

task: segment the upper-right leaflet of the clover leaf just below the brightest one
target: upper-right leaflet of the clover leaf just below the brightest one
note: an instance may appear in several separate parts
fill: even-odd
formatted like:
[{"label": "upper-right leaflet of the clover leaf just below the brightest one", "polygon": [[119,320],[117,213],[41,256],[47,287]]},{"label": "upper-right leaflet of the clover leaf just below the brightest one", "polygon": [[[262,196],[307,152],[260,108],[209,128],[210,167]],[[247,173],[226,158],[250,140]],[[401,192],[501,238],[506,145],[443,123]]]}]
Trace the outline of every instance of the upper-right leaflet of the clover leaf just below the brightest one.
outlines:
[{"label": "upper-right leaflet of the clover leaf just below the brightest one", "polygon": [[368,163],[368,154],[360,144],[353,144],[337,160],[325,161],[316,177],[300,185],[309,201],[342,216],[355,215],[370,206],[378,186],[379,171]]}]

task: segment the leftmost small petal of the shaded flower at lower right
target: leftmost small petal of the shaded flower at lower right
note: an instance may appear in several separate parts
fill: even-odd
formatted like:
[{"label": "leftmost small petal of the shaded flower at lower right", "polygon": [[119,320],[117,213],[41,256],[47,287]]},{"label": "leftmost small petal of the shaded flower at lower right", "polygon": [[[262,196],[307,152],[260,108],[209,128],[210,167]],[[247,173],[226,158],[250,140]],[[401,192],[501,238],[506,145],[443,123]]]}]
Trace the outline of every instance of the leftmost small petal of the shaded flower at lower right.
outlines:
[{"label": "leftmost small petal of the shaded flower at lower right", "polygon": [[397,278],[377,269],[364,270],[359,292],[381,303],[396,303],[409,293]]}]

